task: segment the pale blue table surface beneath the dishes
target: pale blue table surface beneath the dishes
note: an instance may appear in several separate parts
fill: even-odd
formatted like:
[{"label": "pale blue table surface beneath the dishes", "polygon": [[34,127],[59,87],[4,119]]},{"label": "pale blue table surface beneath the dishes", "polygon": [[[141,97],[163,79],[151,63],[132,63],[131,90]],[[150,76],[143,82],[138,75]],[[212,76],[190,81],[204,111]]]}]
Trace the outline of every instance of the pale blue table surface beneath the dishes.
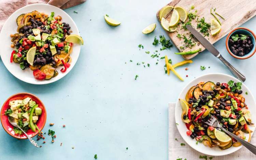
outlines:
[{"label": "pale blue table surface beneath the dishes", "polygon": [[[173,74],[165,74],[165,62],[160,57],[168,55],[174,63],[183,60],[173,54],[177,52],[175,47],[160,52],[160,45],[152,45],[155,36],[165,35],[167,38],[156,19],[156,12],[168,2],[88,0],[66,9],[85,43],[75,67],[55,83],[31,85],[22,82],[0,63],[0,102],[18,92],[37,95],[47,109],[43,131],[52,129],[57,135],[53,144],[51,137],[45,135],[46,143],[40,140],[38,144],[42,148],[35,148],[28,140],[14,139],[0,129],[0,159],[93,160],[95,154],[99,160],[168,159],[168,102],[176,102],[183,87],[195,77],[215,72],[231,75],[208,51],[196,56],[192,64],[176,69],[184,82]],[[107,25],[104,14],[122,24],[117,27]],[[142,29],[152,23],[157,24],[155,31],[142,34]],[[242,26],[256,32],[255,23],[254,17]],[[234,59],[226,50],[225,38],[214,46],[247,77],[245,84],[255,95],[256,56]],[[144,49],[139,50],[139,44],[144,45]],[[155,50],[160,53],[159,58],[150,57]],[[150,51],[150,55],[145,51]],[[157,59],[159,63],[156,65]],[[145,62],[145,68],[142,62]],[[202,71],[200,66],[206,69]],[[186,67],[189,70],[185,71]],[[135,75],[139,75],[137,80],[134,80]],[[50,127],[49,123],[55,125]]]}]

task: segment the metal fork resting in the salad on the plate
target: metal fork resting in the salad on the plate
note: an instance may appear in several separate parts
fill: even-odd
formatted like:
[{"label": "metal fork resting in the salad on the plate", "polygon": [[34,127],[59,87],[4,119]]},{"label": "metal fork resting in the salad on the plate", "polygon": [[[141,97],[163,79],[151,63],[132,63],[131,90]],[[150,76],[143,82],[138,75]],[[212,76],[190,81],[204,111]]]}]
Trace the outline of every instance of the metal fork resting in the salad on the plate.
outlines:
[{"label": "metal fork resting in the salad on the plate", "polygon": [[249,149],[253,154],[256,155],[256,146],[252,145],[251,143],[244,141],[239,136],[227,131],[224,129],[218,122],[217,118],[215,118],[213,115],[211,115],[211,118],[208,119],[207,122],[204,122],[209,126],[216,127],[222,129],[224,132],[226,132],[228,135],[232,136],[234,139],[236,139],[238,142],[240,142],[243,146],[245,146],[247,149]]}]

